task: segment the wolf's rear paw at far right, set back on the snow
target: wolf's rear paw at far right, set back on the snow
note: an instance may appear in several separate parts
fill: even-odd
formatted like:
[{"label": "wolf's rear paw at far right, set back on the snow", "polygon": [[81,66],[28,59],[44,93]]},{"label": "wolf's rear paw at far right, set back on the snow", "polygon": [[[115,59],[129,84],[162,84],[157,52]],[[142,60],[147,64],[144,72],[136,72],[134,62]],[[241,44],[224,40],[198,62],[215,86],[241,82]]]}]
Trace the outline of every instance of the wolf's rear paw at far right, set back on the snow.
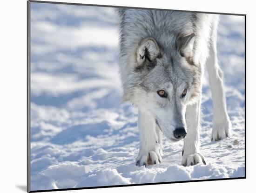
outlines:
[{"label": "wolf's rear paw at far right, set back on the snow", "polygon": [[213,123],[211,141],[223,140],[231,137],[231,122]]}]

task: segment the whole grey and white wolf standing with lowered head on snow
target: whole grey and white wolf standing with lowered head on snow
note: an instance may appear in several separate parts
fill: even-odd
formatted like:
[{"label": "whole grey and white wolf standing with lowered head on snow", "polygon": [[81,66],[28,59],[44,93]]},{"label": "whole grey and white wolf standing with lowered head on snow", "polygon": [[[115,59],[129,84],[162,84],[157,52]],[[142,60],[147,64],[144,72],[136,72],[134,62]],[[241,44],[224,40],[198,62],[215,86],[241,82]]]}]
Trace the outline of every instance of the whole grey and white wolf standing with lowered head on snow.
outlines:
[{"label": "whole grey and white wolf standing with lowered head on snow", "polygon": [[184,141],[183,166],[206,164],[200,153],[202,76],[209,73],[212,141],[231,136],[223,73],[218,65],[218,15],[118,8],[122,100],[138,108],[138,166],[162,161],[162,134]]}]

